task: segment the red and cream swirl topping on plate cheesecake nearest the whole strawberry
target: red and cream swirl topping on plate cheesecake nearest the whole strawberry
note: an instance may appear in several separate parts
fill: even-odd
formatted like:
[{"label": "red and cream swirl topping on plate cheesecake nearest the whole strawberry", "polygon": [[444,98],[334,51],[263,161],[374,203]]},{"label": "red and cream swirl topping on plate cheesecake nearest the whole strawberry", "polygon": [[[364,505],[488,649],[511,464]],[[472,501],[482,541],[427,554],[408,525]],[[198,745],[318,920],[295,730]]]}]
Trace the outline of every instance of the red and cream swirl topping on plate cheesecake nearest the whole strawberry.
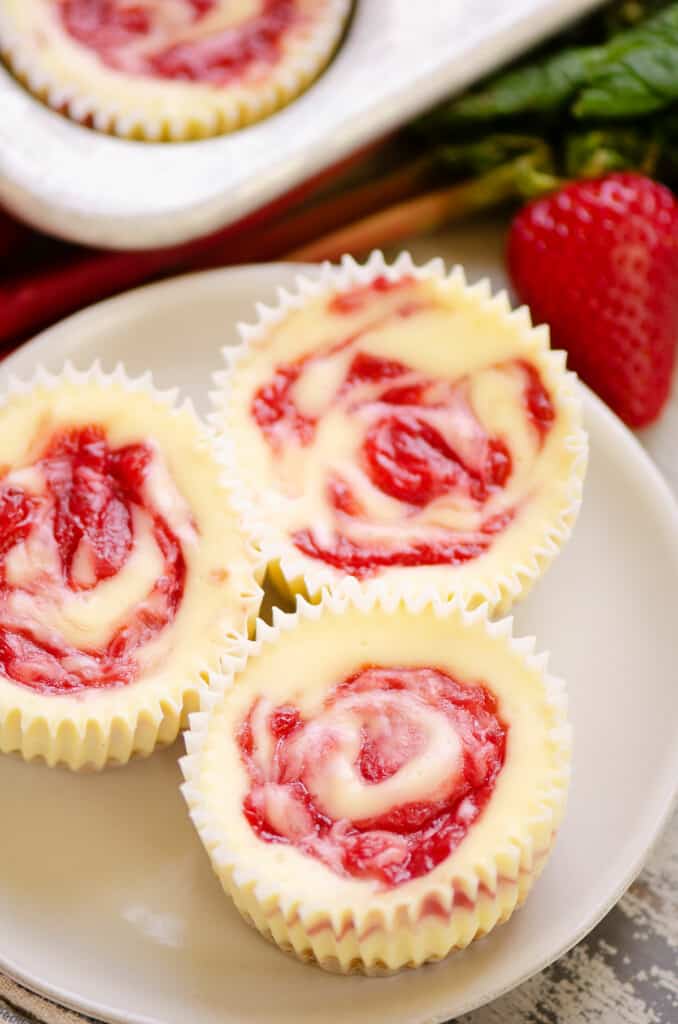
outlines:
[{"label": "red and cream swirl topping on plate cheesecake nearest the whole strawberry", "polygon": [[[408,322],[416,350],[418,325],[432,311],[408,278],[339,294],[325,314],[357,314],[359,326],[278,366],[252,400],[285,497],[315,504],[310,522],[294,523],[293,543],[356,577],[459,565],[486,552],[519,513],[555,419],[527,359],[446,379],[375,346],[378,334]],[[485,413],[518,410],[526,438],[518,458],[509,430],[483,424],[483,395]]]}]

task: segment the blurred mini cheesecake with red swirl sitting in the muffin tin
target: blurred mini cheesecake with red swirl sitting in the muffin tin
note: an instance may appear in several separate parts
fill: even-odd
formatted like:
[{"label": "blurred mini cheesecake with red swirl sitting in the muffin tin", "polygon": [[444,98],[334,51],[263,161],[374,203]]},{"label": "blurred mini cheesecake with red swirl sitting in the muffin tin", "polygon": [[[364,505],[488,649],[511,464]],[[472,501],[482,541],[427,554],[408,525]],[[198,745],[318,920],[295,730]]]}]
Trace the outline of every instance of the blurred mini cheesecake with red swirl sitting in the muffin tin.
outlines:
[{"label": "blurred mini cheesecake with red swirl sitting in the muffin tin", "polygon": [[350,0],[3,0],[0,52],[74,120],[140,139],[231,131],[297,96]]}]

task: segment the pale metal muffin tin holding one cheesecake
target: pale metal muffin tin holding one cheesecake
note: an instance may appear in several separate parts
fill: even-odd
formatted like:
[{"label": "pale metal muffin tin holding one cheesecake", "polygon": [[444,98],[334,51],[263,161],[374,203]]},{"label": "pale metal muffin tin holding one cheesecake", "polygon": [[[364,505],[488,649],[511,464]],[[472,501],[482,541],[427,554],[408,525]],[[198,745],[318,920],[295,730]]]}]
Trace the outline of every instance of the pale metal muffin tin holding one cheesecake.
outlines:
[{"label": "pale metal muffin tin holding one cheesecake", "polygon": [[262,206],[600,2],[356,0],[336,59],[303,96],[259,124],[193,143],[81,128],[0,66],[0,200],[76,242],[183,242]]}]

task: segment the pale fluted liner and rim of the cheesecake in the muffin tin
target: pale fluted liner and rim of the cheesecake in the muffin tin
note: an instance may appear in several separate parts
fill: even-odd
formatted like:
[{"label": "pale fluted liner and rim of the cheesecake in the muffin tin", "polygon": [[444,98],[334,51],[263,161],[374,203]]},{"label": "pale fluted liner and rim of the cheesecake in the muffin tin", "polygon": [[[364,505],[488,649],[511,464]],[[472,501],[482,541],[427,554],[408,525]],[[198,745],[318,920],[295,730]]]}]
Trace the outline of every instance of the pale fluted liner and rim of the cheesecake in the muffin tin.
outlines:
[{"label": "pale fluted liner and rim of the cheesecake in the muffin tin", "polygon": [[44,7],[33,0],[0,5],[0,55],[35,96],[97,131],[154,142],[208,138],[268,117],[319,77],[339,45],[351,0],[324,0],[324,6],[322,20],[297,30],[281,67],[256,85],[214,87],[107,68],[48,26]]}]

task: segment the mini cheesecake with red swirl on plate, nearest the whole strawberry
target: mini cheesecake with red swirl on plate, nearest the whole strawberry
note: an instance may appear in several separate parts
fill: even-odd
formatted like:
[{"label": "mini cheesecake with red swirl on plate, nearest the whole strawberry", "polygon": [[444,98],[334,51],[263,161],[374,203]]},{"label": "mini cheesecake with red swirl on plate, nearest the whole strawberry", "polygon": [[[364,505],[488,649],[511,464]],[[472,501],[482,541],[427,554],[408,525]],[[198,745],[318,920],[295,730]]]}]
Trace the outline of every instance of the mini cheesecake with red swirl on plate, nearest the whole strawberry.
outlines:
[{"label": "mini cheesecake with red swirl on plate, nearest the whole strawberry", "polygon": [[568,536],[579,395],[505,296],[348,261],[224,351],[214,423],[282,593],[354,577],[505,608]]}]

